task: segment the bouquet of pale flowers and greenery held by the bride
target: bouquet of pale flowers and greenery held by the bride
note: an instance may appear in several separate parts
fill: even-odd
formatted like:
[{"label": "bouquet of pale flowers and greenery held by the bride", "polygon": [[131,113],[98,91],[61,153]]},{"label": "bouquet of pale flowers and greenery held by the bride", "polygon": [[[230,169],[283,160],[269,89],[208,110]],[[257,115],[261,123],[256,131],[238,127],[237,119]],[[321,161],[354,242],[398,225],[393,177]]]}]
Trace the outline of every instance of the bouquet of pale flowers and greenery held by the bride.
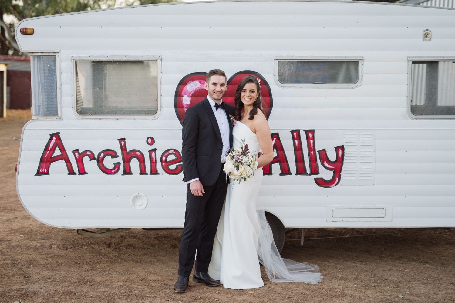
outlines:
[{"label": "bouquet of pale flowers and greenery held by the bride", "polygon": [[254,176],[254,170],[258,167],[256,162],[257,153],[250,153],[248,144],[244,144],[245,139],[240,142],[238,149],[231,149],[226,156],[226,163],[223,171],[227,177],[236,180],[237,183],[246,181],[251,176]]}]

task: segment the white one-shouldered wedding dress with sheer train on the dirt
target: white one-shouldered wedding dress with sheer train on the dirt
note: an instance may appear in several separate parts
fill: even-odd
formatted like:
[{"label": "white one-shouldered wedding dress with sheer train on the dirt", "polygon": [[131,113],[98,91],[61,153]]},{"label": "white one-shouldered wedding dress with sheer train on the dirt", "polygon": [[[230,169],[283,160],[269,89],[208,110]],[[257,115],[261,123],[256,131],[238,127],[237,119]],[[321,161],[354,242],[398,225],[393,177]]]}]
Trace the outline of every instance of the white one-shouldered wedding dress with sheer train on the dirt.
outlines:
[{"label": "white one-shouldered wedding dress with sheer train on the dirt", "polygon": [[[233,128],[233,146],[238,148],[242,139],[248,144],[250,152],[260,151],[256,134],[247,125],[237,121]],[[262,169],[256,169],[254,177],[247,181],[238,184],[231,179],[228,184],[208,268],[209,275],[220,280],[225,288],[262,287],[264,283],[259,257],[268,278],[273,282],[318,283],[323,277],[317,266],[281,258],[265,213],[257,205],[262,178]]]}]

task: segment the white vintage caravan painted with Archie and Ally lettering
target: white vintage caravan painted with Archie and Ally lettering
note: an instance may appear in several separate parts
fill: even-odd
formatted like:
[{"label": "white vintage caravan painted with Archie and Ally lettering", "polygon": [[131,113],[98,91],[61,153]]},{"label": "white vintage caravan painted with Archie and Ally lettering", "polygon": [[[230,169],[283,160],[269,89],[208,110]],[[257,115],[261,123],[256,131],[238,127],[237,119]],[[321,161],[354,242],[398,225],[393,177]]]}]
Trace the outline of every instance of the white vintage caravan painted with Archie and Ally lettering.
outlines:
[{"label": "white vintage caravan painted with Archie and Ally lettering", "polygon": [[276,234],[455,226],[453,9],[172,3],[27,19],[16,37],[33,92],[17,192],[44,224],[182,227],[182,119],[219,68],[229,103],[244,75],[261,79]]}]

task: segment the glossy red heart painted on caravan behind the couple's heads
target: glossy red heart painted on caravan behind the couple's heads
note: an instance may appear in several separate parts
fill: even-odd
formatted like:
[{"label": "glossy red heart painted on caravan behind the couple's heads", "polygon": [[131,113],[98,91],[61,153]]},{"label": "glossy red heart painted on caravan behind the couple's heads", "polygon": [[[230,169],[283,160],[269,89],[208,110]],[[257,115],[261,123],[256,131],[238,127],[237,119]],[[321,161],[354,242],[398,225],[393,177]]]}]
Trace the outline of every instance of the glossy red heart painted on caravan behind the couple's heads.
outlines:
[{"label": "glossy red heart painted on caravan behind the couple's heads", "polygon": [[[234,106],[234,96],[237,85],[240,80],[248,75],[253,75],[257,79],[261,80],[262,109],[268,119],[273,108],[272,91],[270,90],[270,87],[264,77],[255,71],[243,70],[235,73],[231,78],[229,78],[229,80],[227,80],[227,90],[223,96],[223,102]],[[206,76],[207,73],[204,72],[191,73],[184,76],[179,81],[175,90],[174,108],[180,124],[183,125],[183,118],[185,117],[187,109],[207,97],[207,89],[204,88]]]}]

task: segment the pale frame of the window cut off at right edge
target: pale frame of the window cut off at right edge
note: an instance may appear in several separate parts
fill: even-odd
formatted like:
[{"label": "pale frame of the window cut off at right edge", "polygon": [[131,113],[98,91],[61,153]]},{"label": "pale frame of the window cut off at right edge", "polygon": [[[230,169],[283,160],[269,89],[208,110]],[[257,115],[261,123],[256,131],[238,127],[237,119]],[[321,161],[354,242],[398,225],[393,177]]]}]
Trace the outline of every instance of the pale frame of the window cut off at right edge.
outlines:
[{"label": "pale frame of the window cut off at right edge", "polygon": [[441,62],[455,61],[455,56],[408,56],[408,95],[406,97],[406,109],[408,116],[414,120],[453,120],[454,115],[415,115],[411,112],[411,94],[412,94],[412,63],[413,62]]}]

